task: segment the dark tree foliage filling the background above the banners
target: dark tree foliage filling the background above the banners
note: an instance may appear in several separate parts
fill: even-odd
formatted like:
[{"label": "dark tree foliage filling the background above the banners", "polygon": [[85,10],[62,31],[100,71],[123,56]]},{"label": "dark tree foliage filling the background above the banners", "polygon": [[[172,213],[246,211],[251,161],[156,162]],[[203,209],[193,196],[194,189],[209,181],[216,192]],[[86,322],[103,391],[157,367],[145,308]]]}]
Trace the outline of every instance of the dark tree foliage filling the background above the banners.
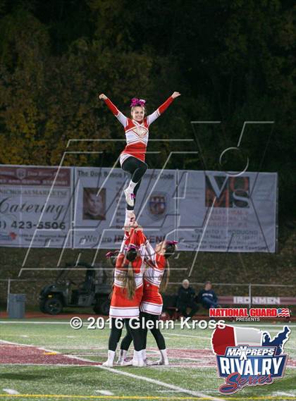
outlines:
[{"label": "dark tree foliage filling the background above the banners", "polygon": [[[104,92],[123,113],[131,97],[152,112],[174,90],[182,97],[152,126],[154,138],[192,138],[199,128],[206,168],[254,127],[244,151],[252,169],[280,173],[280,199],[290,213],[295,195],[296,6],[283,0],[0,1],[0,163],[113,165],[124,142],[121,125],[97,100]],[[70,142],[69,142],[70,141]],[[149,143],[153,168],[183,144]],[[67,144],[70,146],[67,147]],[[64,154],[65,151],[85,152]],[[190,145],[197,150],[197,145]],[[104,152],[101,154],[87,152]],[[240,158],[230,165],[239,168]],[[168,168],[203,168],[201,155],[175,156]],[[287,200],[288,199],[288,200]],[[290,206],[289,206],[290,205]]]}]

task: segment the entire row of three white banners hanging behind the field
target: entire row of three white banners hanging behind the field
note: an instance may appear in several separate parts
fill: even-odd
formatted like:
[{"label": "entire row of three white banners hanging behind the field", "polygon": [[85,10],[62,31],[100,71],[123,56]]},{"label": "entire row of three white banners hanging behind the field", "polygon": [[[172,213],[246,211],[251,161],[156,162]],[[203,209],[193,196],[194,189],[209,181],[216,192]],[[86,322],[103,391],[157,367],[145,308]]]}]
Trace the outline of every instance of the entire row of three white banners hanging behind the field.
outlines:
[{"label": "entire row of three white banners hanging behind the field", "polygon": [[[0,246],[118,249],[129,175],[67,167],[54,178],[56,171],[0,166]],[[182,251],[276,252],[277,180],[276,173],[148,169],[137,220],[152,245],[166,238]]]}]

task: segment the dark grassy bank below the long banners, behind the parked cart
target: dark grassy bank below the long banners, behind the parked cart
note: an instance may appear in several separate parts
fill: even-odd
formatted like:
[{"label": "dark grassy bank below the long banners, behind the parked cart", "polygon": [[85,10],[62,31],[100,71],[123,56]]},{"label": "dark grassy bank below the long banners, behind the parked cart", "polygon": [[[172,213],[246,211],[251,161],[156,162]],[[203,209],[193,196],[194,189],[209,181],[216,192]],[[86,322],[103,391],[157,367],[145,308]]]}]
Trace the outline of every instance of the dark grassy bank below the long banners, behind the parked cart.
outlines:
[{"label": "dark grassy bank below the long banners, behind the parked cart", "polygon": [[[282,229],[280,233],[279,251],[277,254],[266,253],[223,253],[223,252],[200,252],[195,260],[194,269],[190,281],[202,283],[205,280],[211,280],[216,283],[259,283],[259,284],[282,284],[291,285],[295,280],[295,243],[296,232],[288,228]],[[0,248],[0,303],[6,303],[7,282],[1,279],[18,278],[23,259],[27,249],[23,248]],[[75,261],[80,254],[80,261],[92,263],[94,250],[85,249],[66,249],[63,254],[61,266],[66,262]],[[104,255],[106,250],[99,251],[97,262],[106,261]],[[193,252],[181,252],[178,259],[171,259],[171,278],[172,283],[178,283],[183,278],[187,278],[192,262],[195,259]],[[27,305],[37,306],[39,291],[47,283],[52,283],[56,277],[56,271],[45,269],[56,268],[59,249],[32,249],[25,269],[19,278],[31,279],[32,281],[13,282],[11,292],[25,293],[27,295]],[[104,266],[110,269],[108,264]],[[295,284],[295,282],[294,282]],[[168,293],[175,293],[178,285],[169,285]],[[199,288],[195,288],[199,290]],[[216,288],[218,295],[248,295],[246,287],[219,287]],[[296,296],[292,288],[253,288],[254,296]]]}]

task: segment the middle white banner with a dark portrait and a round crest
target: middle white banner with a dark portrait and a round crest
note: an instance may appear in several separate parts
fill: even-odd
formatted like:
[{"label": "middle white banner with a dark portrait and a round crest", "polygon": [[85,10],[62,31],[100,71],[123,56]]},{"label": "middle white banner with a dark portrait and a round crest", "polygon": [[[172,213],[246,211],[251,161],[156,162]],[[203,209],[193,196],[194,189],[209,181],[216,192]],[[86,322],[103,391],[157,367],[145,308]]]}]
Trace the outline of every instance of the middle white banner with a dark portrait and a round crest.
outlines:
[{"label": "middle white banner with a dark portrait and a round crest", "polygon": [[[174,170],[147,170],[137,192],[137,221],[152,244],[175,239]],[[120,168],[75,168],[74,247],[114,249],[121,246],[125,221],[123,189],[130,175]]]}]

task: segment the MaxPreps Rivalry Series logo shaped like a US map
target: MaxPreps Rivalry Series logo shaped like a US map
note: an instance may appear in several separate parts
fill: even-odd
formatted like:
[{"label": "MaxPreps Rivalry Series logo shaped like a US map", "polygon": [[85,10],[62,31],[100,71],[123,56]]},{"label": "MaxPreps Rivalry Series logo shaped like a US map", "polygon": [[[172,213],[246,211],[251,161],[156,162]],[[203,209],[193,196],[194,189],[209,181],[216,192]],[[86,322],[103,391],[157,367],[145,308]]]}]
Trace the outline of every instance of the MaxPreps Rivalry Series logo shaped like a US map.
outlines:
[{"label": "MaxPreps Rivalry Series logo shaped like a US map", "polygon": [[233,394],[246,385],[271,384],[275,378],[282,378],[288,359],[283,346],[290,332],[285,326],[271,339],[268,332],[257,328],[217,327],[211,345],[216,354],[218,376],[225,378],[219,392]]}]

